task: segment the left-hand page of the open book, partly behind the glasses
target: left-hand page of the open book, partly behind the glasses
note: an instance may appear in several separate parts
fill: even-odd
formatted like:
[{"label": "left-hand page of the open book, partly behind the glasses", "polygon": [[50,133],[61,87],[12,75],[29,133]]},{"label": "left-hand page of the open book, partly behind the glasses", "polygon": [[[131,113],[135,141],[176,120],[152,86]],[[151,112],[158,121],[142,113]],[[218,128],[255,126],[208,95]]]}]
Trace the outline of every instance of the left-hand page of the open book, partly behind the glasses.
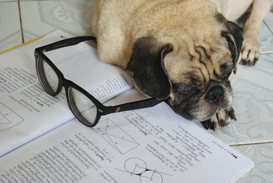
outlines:
[{"label": "left-hand page of the open book, partly behind the glasses", "polygon": [[[52,97],[36,74],[34,50],[68,38],[55,31],[42,39],[0,55],[0,156],[74,118],[64,89]],[[133,86],[120,68],[100,62],[85,43],[46,52],[70,79],[105,102]]]}]

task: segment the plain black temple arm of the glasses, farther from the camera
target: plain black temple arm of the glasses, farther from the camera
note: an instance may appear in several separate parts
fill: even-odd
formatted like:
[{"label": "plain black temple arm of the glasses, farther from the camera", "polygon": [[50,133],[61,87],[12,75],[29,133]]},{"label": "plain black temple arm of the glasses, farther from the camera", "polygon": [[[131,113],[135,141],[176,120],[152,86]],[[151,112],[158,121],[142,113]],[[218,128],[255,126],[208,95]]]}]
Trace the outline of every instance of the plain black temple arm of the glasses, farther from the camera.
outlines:
[{"label": "plain black temple arm of the glasses, farther from the camera", "polygon": [[80,36],[80,37],[68,38],[65,40],[57,41],[55,43],[51,43],[51,44],[42,46],[37,49],[39,49],[43,52],[46,52],[46,51],[51,51],[51,50],[58,49],[58,48],[63,48],[66,46],[73,46],[73,45],[79,44],[83,41],[89,41],[89,40],[96,42],[96,38],[93,36]]}]

